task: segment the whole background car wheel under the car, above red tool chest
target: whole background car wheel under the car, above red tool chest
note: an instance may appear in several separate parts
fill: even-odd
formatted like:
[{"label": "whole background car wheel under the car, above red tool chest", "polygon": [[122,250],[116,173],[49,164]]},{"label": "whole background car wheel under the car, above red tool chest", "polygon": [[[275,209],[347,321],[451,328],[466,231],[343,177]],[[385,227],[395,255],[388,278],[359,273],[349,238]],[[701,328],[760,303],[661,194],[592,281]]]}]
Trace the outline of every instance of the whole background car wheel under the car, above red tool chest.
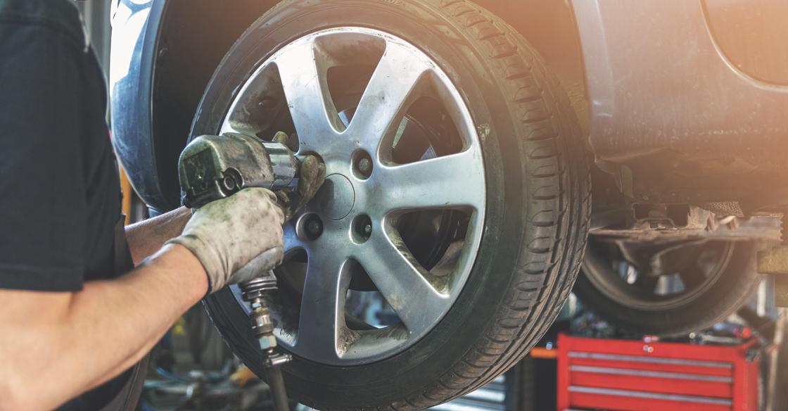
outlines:
[{"label": "whole background car wheel under the car, above red tool chest", "polygon": [[603,319],[678,336],[719,323],[760,283],[751,241],[643,242],[592,235],[574,293]]}]

